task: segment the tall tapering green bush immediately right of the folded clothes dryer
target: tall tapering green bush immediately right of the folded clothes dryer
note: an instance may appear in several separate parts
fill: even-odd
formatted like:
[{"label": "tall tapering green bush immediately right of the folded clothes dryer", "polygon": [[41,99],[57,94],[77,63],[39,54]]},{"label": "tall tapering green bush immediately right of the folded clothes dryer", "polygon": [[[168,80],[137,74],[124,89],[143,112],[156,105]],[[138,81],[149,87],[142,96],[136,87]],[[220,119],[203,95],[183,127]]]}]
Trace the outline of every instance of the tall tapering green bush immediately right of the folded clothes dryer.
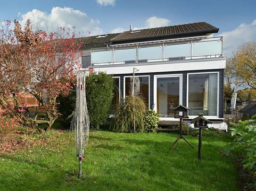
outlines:
[{"label": "tall tapering green bush immediately right of the folded clothes dryer", "polygon": [[86,77],[85,90],[90,129],[98,130],[107,122],[112,108],[113,76],[107,75],[105,72],[93,73]]}]

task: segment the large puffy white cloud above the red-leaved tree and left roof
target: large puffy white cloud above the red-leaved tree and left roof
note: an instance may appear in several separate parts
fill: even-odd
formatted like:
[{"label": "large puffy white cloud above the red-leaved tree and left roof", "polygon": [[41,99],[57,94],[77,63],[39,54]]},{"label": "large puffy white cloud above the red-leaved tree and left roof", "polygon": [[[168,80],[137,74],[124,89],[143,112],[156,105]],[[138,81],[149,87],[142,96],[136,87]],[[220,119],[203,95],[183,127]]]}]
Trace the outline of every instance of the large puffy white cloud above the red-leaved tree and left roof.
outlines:
[{"label": "large puffy white cloud above the red-leaved tree and left roof", "polygon": [[86,13],[73,8],[52,8],[51,13],[42,12],[37,9],[33,9],[24,15],[22,26],[28,18],[33,22],[34,27],[38,27],[41,30],[56,31],[57,27],[69,28],[73,31],[73,26],[76,32],[83,32],[83,35],[88,36],[88,32],[91,35],[102,34],[103,31],[98,27],[99,21],[91,19]]}]

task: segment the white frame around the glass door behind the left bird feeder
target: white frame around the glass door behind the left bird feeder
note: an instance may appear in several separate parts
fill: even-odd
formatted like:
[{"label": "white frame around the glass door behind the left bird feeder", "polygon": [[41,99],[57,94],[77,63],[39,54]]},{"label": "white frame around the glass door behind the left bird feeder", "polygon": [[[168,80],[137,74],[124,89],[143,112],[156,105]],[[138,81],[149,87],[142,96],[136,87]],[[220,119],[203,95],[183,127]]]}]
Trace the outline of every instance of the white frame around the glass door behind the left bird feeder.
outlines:
[{"label": "white frame around the glass door behind the left bird feeder", "polygon": [[[179,105],[182,105],[182,86],[183,86],[183,75],[182,74],[166,74],[166,75],[154,75],[154,108],[153,110],[157,113],[157,78],[165,77],[179,77],[180,78],[180,99]],[[169,115],[166,115],[169,116]],[[170,117],[173,118],[173,117]]]}]

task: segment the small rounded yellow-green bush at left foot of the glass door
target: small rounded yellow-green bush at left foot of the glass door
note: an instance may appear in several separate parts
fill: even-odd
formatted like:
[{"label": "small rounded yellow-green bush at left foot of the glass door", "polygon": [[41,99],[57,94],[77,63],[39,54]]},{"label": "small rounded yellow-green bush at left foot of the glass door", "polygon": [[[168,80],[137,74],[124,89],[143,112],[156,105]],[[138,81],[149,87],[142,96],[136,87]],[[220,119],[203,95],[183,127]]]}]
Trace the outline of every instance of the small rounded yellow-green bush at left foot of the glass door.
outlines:
[{"label": "small rounded yellow-green bush at left foot of the glass door", "polygon": [[151,109],[146,112],[144,116],[144,128],[147,132],[155,132],[159,123],[157,113]]}]

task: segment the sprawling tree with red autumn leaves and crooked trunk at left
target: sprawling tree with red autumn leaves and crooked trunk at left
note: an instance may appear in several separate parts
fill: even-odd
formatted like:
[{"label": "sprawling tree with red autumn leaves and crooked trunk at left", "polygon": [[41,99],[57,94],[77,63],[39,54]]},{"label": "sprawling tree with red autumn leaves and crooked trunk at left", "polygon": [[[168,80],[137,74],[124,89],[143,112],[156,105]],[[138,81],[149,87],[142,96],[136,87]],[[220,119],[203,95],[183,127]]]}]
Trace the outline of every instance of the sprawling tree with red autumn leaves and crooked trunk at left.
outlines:
[{"label": "sprawling tree with red autumn leaves and crooked trunk at left", "polygon": [[[24,126],[46,124],[42,132],[48,133],[58,118],[56,101],[59,94],[67,95],[72,90],[70,79],[80,67],[79,48],[74,34],[67,38],[65,29],[58,33],[33,31],[30,20],[24,30],[20,23],[11,22],[0,30],[0,105],[2,112],[16,116]],[[42,98],[47,94],[49,100]],[[44,107],[43,118],[27,115],[27,104],[20,98],[33,95]]]}]

